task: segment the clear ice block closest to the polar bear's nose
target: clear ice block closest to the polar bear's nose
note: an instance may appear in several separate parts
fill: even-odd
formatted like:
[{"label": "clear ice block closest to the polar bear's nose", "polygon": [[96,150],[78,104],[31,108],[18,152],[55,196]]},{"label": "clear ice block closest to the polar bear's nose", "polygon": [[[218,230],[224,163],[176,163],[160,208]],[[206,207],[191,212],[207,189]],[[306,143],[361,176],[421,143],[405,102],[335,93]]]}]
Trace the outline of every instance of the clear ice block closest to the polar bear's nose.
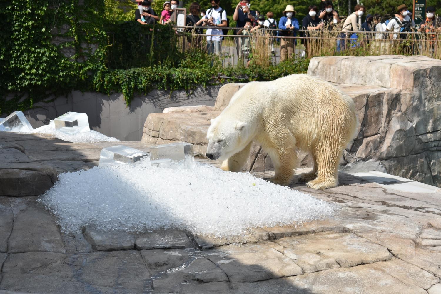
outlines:
[{"label": "clear ice block closest to the polar bear's nose", "polygon": [[168,158],[174,161],[194,162],[193,145],[184,142],[150,146],[150,156],[151,160]]}]

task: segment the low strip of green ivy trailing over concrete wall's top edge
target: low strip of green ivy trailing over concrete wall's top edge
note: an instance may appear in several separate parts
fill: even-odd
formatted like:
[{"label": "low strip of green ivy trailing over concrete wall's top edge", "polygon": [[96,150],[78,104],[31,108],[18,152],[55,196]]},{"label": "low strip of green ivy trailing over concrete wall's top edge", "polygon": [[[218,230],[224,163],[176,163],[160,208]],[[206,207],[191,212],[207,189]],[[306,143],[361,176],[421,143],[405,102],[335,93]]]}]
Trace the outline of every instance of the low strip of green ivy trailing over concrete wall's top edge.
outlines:
[{"label": "low strip of green ivy trailing over concrete wall's top edge", "polygon": [[[198,54],[187,56],[180,64],[188,63],[188,60],[197,64],[198,59],[193,58],[195,55]],[[287,60],[265,68],[258,66],[210,67],[207,59],[203,58],[199,59],[199,63],[203,64],[200,64],[200,67],[170,67],[164,63],[153,67],[100,71],[94,77],[93,88],[107,94],[122,92],[128,105],[135,93],[148,93],[153,89],[188,91],[198,85],[206,87],[226,82],[271,81],[288,74],[306,73],[309,59]]]}]

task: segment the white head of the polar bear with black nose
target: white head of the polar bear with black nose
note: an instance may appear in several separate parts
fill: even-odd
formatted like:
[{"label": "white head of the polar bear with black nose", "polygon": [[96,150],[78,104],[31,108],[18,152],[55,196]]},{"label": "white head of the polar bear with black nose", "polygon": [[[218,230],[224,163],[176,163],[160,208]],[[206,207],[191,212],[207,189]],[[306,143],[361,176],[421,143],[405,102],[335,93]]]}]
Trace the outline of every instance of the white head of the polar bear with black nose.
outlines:
[{"label": "white head of the polar bear with black nose", "polygon": [[249,143],[249,127],[245,122],[234,119],[224,120],[220,116],[211,119],[207,132],[209,159],[225,160],[241,151]]}]

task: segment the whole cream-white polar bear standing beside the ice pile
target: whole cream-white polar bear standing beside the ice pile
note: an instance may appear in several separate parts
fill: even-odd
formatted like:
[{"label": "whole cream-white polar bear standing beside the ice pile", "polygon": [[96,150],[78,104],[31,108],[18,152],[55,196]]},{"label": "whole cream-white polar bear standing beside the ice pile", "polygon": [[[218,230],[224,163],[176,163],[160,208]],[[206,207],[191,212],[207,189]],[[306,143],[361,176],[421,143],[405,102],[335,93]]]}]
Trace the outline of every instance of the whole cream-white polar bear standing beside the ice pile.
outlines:
[{"label": "whole cream-white polar bear standing beside the ice pile", "polygon": [[224,160],[225,171],[241,171],[255,141],[273,161],[270,181],[287,186],[298,167],[297,150],[304,150],[314,168],[300,180],[331,188],[338,185],[337,167],[356,126],[354,101],[329,82],[306,74],[250,82],[211,120],[206,155]]}]

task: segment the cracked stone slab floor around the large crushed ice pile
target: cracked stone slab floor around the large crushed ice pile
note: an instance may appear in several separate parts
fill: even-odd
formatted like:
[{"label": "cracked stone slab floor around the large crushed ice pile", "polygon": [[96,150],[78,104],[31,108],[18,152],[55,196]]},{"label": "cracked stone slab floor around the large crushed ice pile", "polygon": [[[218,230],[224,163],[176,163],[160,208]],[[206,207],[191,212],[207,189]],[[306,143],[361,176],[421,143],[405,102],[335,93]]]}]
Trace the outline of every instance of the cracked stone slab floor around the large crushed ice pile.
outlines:
[{"label": "cracked stone slab floor around the large crushed ice pile", "polygon": [[149,147],[0,134],[0,192],[15,195],[0,197],[0,294],[441,293],[441,190],[379,172],[340,173],[328,190],[295,177],[293,189],[339,204],[339,216],[242,239],[61,233],[36,202],[39,189],[56,173],[96,166],[101,148],[118,144]]}]

